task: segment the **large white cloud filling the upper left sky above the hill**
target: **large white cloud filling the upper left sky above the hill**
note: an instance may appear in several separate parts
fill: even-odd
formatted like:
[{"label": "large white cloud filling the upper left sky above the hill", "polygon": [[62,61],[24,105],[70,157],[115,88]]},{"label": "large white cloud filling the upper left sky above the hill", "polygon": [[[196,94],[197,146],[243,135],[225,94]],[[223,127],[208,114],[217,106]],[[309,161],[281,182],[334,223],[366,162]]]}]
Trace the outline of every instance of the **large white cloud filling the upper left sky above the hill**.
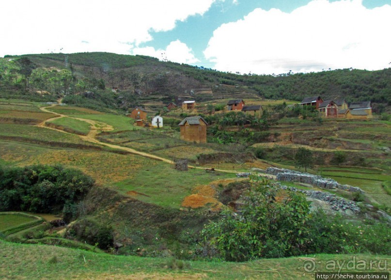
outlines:
[{"label": "large white cloud filling the upper left sky above the hill", "polygon": [[[203,15],[215,0],[5,0],[0,57],[5,54],[129,50]],[[86,43],[88,42],[88,44]]]}]

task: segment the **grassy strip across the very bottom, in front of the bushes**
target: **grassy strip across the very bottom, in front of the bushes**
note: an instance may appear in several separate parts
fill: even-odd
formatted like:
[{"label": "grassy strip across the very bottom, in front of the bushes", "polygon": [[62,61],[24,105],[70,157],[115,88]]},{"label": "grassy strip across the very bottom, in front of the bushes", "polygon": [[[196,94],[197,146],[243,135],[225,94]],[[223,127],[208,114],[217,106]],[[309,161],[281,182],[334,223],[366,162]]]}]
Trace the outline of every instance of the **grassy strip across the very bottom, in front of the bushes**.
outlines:
[{"label": "grassy strip across the very bottom, in front of the bushes", "polygon": [[[172,258],[141,258],[94,253],[47,245],[9,243],[0,240],[1,279],[314,279],[312,272],[387,272],[390,256],[368,254],[261,259],[246,263],[178,261]],[[367,263],[351,268],[348,262]],[[369,269],[372,261],[372,269]],[[308,272],[308,264],[315,264]],[[327,265],[328,264],[328,265]],[[307,267],[307,271],[304,269]]]}]

